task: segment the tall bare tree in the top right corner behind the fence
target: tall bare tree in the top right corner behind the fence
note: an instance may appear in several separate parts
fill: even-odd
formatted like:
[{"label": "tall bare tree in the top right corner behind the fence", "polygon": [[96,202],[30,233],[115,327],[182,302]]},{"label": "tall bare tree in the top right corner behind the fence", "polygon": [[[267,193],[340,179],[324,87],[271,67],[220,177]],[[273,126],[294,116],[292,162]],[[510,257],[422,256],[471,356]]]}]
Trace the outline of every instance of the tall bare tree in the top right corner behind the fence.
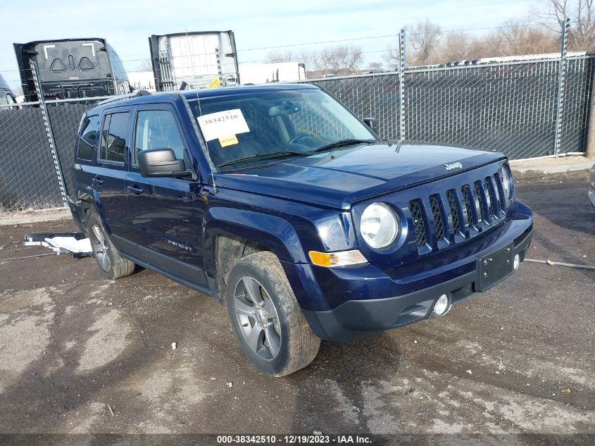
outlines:
[{"label": "tall bare tree in the top right corner behind the fence", "polygon": [[595,49],[595,5],[594,0],[541,0],[542,7],[537,15],[546,20],[552,30],[551,19],[563,22],[570,18],[568,48],[572,51],[593,51]]}]

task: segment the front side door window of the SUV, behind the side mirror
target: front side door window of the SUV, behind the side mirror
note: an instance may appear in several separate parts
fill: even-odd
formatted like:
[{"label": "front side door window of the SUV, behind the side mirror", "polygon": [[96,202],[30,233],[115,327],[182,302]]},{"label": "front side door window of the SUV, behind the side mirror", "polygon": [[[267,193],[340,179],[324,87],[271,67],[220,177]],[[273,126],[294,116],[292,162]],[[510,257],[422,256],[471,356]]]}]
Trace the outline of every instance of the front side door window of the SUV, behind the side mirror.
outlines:
[{"label": "front side door window of the SUV, behind the side mirror", "polygon": [[134,164],[138,164],[139,151],[146,149],[172,149],[177,159],[184,159],[184,143],[172,112],[139,111],[134,132]]}]

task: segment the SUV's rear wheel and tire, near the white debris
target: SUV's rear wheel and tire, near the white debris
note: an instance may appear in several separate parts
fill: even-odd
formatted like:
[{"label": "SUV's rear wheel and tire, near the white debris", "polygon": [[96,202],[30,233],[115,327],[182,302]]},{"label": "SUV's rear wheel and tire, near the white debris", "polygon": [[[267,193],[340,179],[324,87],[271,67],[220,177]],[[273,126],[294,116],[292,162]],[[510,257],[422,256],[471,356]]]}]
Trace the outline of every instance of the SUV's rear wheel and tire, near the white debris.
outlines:
[{"label": "SUV's rear wheel and tire, near the white debris", "polygon": [[118,249],[113,246],[98,216],[92,214],[87,229],[93,256],[99,265],[99,269],[106,277],[119,279],[134,273],[134,262],[120,256]]}]

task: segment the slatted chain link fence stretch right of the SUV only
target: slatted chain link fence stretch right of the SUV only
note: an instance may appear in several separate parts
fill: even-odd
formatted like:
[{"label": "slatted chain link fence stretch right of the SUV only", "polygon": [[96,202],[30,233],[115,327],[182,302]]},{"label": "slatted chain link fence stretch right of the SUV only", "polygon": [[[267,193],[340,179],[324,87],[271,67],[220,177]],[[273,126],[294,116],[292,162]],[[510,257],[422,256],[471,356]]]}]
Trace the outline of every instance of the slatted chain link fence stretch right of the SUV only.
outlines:
[{"label": "slatted chain link fence stretch right of the SUV only", "polygon": [[[595,56],[569,58],[560,116],[560,153],[584,152]],[[308,80],[361,118],[377,118],[382,139],[501,151],[509,159],[554,154],[559,61]],[[404,115],[403,135],[399,126]]]}]

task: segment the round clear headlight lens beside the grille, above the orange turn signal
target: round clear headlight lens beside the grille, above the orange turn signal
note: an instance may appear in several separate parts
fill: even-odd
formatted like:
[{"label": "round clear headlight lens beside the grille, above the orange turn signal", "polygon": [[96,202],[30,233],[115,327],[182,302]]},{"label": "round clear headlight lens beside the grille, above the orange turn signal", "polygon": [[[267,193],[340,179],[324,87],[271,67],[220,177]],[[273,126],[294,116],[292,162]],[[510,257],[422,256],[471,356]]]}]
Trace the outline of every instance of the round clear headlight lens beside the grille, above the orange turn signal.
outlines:
[{"label": "round clear headlight lens beside the grille, above the orange turn signal", "polygon": [[399,219],[386,204],[372,203],[361,214],[360,231],[370,247],[386,248],[399,233]]}]

